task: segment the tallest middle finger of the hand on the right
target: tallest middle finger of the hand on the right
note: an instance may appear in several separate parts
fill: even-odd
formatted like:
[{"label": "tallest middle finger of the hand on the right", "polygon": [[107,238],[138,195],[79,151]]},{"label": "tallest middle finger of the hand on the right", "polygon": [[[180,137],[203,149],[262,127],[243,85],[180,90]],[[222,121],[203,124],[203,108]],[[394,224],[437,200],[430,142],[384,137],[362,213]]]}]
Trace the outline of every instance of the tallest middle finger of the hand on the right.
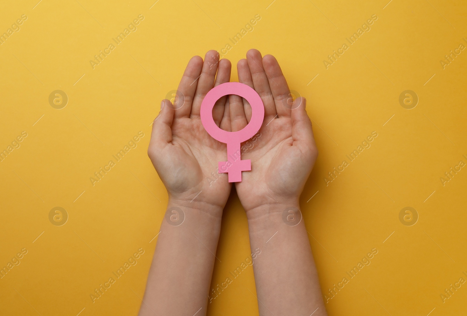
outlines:
[{"label": "tallest middle finger of the hand on the right", "polygon": [[276,104],[274,103],[274,98],[272,97],[269,87],[268,76],[266,72],[264,72],[262,57],[259,50],[248,50],[247,61],[255,90],[264,103],[264,116],[276,116]]}]

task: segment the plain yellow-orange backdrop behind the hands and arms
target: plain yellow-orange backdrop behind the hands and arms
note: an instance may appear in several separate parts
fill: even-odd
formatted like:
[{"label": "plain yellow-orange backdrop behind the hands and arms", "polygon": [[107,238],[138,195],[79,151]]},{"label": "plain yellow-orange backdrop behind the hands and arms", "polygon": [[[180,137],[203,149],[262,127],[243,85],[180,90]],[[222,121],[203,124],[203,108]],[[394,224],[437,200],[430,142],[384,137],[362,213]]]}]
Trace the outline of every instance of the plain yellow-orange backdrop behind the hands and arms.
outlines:
[{"label": "plain yellow-orange backdrop behind the hands and arms", "polygon": [[[467,4],[154,2],[0,4],[0,267],[10,267],[0,314],[136,315],[167,202],[146,154],[149,124],[191,56],[216,49],[235,65],[257,48],[308,100],[319,157],[301,207],[329,315],[464,315]],[[139,132],[137,147],[92,183]],[[212,285],[249,253],[233,193]],[[250,291],[251,268],[208,315],[257,315]]]}]

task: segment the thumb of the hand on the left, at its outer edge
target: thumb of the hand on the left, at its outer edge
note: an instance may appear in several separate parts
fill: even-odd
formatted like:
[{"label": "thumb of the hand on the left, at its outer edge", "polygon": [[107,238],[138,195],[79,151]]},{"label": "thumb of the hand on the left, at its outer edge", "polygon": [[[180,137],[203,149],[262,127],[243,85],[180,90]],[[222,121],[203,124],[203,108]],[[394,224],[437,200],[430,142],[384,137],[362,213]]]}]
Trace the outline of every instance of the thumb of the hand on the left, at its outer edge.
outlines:
[{"label": "thumb of the hand on the left, at its outer edge", "polygon": [[161,111],[157,115],[154,122],[152,122],[151,140],[149,141],[149,149],[153,153],[163,149],[167,144],[172,141],[172,122],[174,113],[172,103],[169,100],[161,102]]}]

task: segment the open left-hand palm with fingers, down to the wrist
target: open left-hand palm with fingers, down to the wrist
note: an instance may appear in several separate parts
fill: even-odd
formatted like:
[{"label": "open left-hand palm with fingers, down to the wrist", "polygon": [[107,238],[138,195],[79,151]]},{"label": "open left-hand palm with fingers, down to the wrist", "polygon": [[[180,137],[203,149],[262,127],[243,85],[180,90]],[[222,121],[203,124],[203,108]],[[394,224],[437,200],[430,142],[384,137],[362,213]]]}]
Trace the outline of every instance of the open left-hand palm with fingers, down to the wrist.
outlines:
[{"label": "open left-hand palm with fingers, down to the wrist", "polygon": [[[205,60],[192,57],[186,66],[172,104],[163,100],[153,123],[148,155],[169,194],[169,205],[199,205],[224,208],[232,187],[227,175],[217,173],[218,161],[226,158],[226,144],[205,131],[199,111],[206,93],[230,80],[228,59],[219,62],[215,50]],[[216,76],[217,72],[217,76]],[[213,118],[221,128],[230,128],[226,97],[217,101]],[[224,109],[227,108],[227,111]],[[224,113],[226,113],[224,115]]]}]

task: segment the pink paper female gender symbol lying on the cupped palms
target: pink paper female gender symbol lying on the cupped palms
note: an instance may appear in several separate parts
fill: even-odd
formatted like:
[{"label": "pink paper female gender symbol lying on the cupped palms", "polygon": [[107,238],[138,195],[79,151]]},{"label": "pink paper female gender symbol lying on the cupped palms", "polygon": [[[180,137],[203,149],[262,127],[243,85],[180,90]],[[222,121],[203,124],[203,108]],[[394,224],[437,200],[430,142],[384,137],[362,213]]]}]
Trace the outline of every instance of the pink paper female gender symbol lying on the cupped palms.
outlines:
[{"label": "pink paper female gender symbol lying on the cupped palms", "polygon": [[[212,118],[212,108],[224,95],[236,94],[245,98],[251,105],[251,120],[244,129],[227,132],[220,129]],[[212,138],[227,144],[227,161],[219,161],[219,172],[227,172],[229,182],[241,182],[241,172],[251,170],[251,160],[241,160],[240,144],[260,130],[264,120],[264,105],[261,97],[251,87],[240,82],[226,82],[212,88],[201,103],[201,122]]]}]

